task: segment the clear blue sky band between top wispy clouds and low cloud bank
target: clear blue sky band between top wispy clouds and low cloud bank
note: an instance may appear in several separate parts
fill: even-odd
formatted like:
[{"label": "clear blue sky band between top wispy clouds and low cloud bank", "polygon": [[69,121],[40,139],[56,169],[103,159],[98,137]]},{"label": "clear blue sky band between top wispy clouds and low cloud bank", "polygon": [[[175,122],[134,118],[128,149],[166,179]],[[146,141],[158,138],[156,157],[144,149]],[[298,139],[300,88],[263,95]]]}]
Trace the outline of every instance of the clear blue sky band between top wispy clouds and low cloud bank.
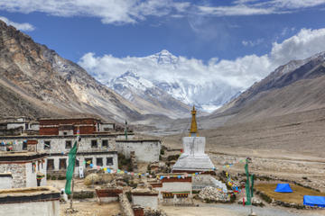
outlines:
[{"label": "clear blue sky band between top wispy clouds and low cloud bank", "polygon": [[[32,2],[42,4],[42,1]],[[87,52],[95,52],[99,56],[112,54],[121,58],[144,57],[162,49],[168,49],[176,56],[204,61],[209,58],[235,59],[248,54],[262,55],[272,48],[274,41],[289,38],[302,28],[320,29],[325,24],[325,13],[322,11],[325,5],[317,0],[308,7],[288,8],[290,13],[274,9],[279,11],[246,15],[240,11],[234,15],[191,13],[191,10],[198,10],[194,5],[206,5],[209,8],[228,6],[228,10],[237,5],[236,1],[224,0],[202,1],[200,4],[195,4],[196,2],[200,1],[190,2],[190,9],[186,13],[169,12],[159,16],[149,14],[135,20],[135,23],[127,23],[124,19],[120,21],[124,23],[103,23],[105,15],[67,15],[63,14],[65,9],[46,11],[37,5],[34,5],[31,12],[28,11],[29,8],[17,8],[18,3],[14,5],[15,10],[11,9],[9,3],[4,3],[0,8],[1,16],[10,21],[32,24],[34,30],[26,32],[35,41],[46,44],[62,57],[75,62]],[[242,2],[242,5],[250,5],[246,4],[250,1]],[[78,7],[79,4],[70,5],[72,10],[73,6]],[[269,9],[271,6],[258,8]]]}]

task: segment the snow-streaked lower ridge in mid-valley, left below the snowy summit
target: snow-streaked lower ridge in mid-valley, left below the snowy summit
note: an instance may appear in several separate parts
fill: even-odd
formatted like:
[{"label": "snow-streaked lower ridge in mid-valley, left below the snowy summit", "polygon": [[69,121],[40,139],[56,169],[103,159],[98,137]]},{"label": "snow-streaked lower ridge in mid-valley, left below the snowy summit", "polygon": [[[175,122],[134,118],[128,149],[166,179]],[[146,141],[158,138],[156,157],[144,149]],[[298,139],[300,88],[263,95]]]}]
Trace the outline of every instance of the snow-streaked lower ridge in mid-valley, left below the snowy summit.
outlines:
[{"label": "snow-streaked lower ridge in mid-valley, left below the snowy summit", "polygon": [[189,105],[181,103],[151,81],[131,71],[116,77],[107,85],[147,114],[165,114],[176,119],[187,117],[190,113]]}]

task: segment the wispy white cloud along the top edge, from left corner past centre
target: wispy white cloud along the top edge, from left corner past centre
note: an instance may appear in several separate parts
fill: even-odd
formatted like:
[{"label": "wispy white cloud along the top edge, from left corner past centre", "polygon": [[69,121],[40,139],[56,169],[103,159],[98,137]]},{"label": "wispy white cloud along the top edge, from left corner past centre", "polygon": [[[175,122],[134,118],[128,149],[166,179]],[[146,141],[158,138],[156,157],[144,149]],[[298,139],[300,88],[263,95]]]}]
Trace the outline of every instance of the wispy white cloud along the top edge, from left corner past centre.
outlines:
[{"label": "wispy white cloud along the top edge, from left corner past centre", "polygon": [[29,14],[98,17],[102,23],[136,23],[148,15],[163,16],[186,11],[190,3],[172,0],[3,0],[0,9]]}]

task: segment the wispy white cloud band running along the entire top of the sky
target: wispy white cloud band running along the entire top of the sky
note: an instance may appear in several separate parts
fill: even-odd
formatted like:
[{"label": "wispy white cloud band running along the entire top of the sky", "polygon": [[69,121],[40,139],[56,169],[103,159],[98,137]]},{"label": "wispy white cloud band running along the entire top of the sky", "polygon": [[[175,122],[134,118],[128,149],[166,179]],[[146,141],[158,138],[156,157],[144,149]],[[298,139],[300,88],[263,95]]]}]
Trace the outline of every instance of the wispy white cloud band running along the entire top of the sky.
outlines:
[{"label": "wispy white cloud band running along the entire top of the sky", "polygon": [[293,13],[297,9],[319,6],[325,0],[237,0],[229,6],[178,2],[177,0],[2,0],[0,10],[29,14],[41,12],[56,16],[98,17],[102,23],[137,23],[147,16],[255,15]]}]

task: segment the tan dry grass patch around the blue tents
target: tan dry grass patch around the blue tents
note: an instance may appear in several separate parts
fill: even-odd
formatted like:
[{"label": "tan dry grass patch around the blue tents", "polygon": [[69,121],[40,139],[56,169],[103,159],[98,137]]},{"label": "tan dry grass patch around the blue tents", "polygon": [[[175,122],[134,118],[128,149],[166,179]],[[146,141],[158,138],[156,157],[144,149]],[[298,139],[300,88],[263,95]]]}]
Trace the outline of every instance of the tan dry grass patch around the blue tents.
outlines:
[{"label": "tan dry grass patch around the blue tents", "polygon": [[320,193],[295,184],[290,184],[293,193],[276,193],[274,192],[276,185],[277,184],[275,183],[256,184],[255,189],[267,194],[269,197],[273,198],[274,200],[289,202],[289,203],[297,203],[297,204],[302,204],[303,195],[325,196],[325,193]]}]

